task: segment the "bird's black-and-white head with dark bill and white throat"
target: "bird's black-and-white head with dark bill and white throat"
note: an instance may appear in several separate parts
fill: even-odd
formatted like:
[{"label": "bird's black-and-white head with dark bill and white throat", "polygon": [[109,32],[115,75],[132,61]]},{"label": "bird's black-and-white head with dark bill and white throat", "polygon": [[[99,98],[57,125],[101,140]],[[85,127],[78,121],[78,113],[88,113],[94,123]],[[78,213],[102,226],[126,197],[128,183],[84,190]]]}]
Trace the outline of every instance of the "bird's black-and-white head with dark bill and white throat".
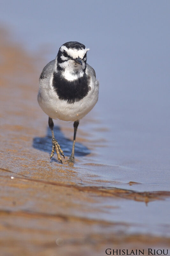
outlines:
[{"label": "bird's black-and-white head with dark bill and white throat", "polygon": [[67,42],[63,44],[57,54],[57,70],[62,71],[63,76],[73,81],[83,75],[86,68],[87,49],[84,44]]}]

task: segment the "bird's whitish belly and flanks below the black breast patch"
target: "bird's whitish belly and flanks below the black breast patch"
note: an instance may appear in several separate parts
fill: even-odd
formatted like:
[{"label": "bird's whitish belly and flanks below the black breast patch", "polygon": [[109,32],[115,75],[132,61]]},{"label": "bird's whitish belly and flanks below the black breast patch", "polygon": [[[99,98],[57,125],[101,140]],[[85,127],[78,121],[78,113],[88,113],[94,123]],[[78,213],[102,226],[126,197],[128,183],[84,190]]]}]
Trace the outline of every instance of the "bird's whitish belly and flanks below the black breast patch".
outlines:
[{"label": "bird's whitish belly and flanks below the black breast patch", "polygon": [[45,81],[40,85],[38,102],[42,110],[53,119],[63,121],[76,121],[83,118],[94,107],[98,100],[99,86],[91,85],[88,94],[79,101],[68,103],[66,100],[60,100],[53,88],[49,85],[44,86]]}]

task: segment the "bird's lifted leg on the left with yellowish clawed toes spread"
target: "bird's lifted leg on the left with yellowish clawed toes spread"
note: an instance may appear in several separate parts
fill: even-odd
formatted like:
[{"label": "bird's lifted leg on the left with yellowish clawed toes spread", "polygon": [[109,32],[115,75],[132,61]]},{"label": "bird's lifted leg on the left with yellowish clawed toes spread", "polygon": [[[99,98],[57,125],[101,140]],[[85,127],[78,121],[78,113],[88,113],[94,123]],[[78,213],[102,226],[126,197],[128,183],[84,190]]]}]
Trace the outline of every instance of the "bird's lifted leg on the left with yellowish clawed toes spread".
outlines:
[{"label": "bird's lifted leg on the left with yellowish clawed toes spread", "polygon": [[62,158],[60,156],[60,155],[62,155],[64,157],[63,150],[60,148],[60,145],[58,144],[57,140],[54,137],[54,131],[53,131],[54,123],[53,123],[53,119],[51,117],[48,118],[48,125],[51,130],[51,134],[52,134],[52,151],[51,151],[50,159],[52,156],[54,156],[54,152],[56,151],[58,160],[63,164]]}]

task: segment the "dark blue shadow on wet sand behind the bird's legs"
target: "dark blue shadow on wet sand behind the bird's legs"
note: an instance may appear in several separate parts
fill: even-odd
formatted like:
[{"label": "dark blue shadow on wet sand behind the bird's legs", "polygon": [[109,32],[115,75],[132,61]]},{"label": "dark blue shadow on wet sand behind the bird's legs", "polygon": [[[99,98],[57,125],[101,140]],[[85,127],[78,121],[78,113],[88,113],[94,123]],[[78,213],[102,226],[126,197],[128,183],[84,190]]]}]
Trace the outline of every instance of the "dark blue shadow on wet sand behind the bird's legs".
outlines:
[{"label": "dark blue shadow on wet sand behind the bird's legs", "polygon": [[[62,148],[65,156],[70,156],[72,151],[73,141],[66,138],[61,132],[59,126],[54,127],[55,139],[58,141],[60,147]],[[33,148],[39,149],[41,151],[48,152],[51,154],[52,150],[52,137],[51,130],[47,127],[47,135],[45,137],[34,137],[33,138]],[[86,156],[90,154],[90,150],[83,144],[76,142],[75,144],[75,156]]]}]

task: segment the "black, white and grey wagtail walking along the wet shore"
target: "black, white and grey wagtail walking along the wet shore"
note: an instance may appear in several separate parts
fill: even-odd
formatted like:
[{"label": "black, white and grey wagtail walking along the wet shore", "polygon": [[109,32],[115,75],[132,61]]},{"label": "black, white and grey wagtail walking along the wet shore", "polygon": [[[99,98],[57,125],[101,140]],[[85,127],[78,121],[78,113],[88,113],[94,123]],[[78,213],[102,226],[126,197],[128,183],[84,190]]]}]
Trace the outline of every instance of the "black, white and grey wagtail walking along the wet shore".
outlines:
[{"label": "black, white and grey wagtail walking along the wet shore", "polygon": [[[94,69],[86,63],[87,52],[84,44],[70,41],[63,44],[54,60],[42,70],[39,78],[38,103],[48,115],[52,134],[52,151],[63,164],[63,150],[54,136],[53,119],[74,122],[74,136],[70,163],[74,163],[76,133],[79,121],[95,106],[99,95],[99,81]],[[65,158],[65,157],[64,157]]]}]

